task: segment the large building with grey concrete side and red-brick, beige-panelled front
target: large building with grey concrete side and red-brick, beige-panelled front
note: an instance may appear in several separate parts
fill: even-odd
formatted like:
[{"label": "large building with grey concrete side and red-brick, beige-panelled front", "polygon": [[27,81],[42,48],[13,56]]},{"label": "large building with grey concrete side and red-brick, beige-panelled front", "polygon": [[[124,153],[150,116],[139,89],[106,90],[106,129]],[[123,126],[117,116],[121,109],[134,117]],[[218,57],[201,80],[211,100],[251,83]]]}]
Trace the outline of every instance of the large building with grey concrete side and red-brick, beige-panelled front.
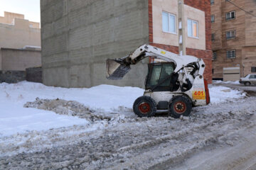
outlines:
[{"label": "large building with grey concrete side and red-brick, beige-panelled front", "polygon": [[[211,82],[210,1],[184,2],[187,55],[204,59]],[[105,78],[105,61],[145,43],[178,53],[177,15],[177,0],[41,0],[43,83],[143,87],[148,60],[122,81]]]}]

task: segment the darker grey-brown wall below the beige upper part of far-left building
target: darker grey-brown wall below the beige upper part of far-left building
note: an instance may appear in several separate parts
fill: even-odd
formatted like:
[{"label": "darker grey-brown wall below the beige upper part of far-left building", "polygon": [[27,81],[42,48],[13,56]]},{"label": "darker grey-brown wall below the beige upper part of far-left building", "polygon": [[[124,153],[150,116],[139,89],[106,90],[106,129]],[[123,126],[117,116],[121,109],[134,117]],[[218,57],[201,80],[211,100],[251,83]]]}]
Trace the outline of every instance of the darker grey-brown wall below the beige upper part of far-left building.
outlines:
[{"label": "darker grey-brown wall below the beige upper part of far-left building", "polygon": [[0,49],[0,70],[25,71],[28,67],[41,66],[41,51]]}]

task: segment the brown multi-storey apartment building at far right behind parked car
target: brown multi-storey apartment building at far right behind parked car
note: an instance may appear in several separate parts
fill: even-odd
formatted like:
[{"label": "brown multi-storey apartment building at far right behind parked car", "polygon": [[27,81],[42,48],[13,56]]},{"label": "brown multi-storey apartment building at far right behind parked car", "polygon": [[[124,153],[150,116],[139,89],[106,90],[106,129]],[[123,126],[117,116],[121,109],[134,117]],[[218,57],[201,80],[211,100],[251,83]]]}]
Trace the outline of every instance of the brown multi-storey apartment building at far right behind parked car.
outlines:
[{"label": "brown multi-storey apartment building at far right behind parked car", "polygon": [[210,0],[213,79],[256,72],[256,1]]}]

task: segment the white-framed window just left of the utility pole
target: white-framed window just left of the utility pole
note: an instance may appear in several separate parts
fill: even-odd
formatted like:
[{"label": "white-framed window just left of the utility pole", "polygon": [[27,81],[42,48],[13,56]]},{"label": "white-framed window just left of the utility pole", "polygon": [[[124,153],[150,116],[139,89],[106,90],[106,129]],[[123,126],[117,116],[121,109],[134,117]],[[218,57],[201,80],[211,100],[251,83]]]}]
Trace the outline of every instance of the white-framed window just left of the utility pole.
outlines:
[{"label": "white-framed window just left of the utility pole", "polygon": [[163,31],[166,33],[176,33],[176,16],[163,12],[162,13],[163,20]]}]

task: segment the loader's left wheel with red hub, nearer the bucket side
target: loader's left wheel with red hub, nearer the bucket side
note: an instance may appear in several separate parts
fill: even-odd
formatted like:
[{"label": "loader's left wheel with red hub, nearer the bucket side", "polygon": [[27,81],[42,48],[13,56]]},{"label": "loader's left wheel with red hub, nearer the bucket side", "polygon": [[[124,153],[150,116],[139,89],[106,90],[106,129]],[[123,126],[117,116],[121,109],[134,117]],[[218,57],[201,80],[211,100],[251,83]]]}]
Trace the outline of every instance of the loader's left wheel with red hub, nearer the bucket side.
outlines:
[{"label": "loader's left wheel with red hub, nearer the bucket side", "polygon": [[133,110],[140,118],[154,116],[156,113],[156,102],[149,96],[141,96],[134,101]]}]

